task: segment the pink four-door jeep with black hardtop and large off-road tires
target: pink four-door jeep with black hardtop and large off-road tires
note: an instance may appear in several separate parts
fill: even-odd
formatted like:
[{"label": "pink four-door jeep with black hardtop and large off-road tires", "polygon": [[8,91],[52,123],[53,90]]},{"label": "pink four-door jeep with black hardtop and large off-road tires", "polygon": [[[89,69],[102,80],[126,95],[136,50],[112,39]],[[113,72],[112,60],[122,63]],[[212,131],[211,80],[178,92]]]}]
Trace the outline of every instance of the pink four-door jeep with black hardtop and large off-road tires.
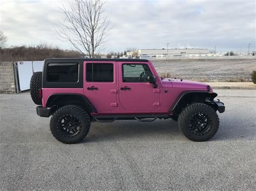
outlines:
[{"label": "pink four-door jeep with black hardtop and large off-road tires", "polygon": [[140,59],[46,59],[30,91],[37,114],[52,115],[52,135],[66,144],[83,140],[93,121],[169,118],[188,139],[203,142],[219,128],[216,111],[225,111],[207,84],[163,79]]}]

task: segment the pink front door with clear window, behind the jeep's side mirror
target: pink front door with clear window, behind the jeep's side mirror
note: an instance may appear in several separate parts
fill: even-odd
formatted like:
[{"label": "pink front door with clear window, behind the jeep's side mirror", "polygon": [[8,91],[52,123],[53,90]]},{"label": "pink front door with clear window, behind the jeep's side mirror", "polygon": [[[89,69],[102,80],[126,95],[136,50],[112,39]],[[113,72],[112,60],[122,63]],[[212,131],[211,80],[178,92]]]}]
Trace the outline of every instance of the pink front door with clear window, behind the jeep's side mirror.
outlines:
[{"label": "pink front door with clear window, behind the jeep's side mirror", "polygon": [[152,75],[152,71],[147,62],[118,63],[118,95],[124,110],[146,113],[159,109],[159,86],[153,88],[147,81],[147,76]]}]

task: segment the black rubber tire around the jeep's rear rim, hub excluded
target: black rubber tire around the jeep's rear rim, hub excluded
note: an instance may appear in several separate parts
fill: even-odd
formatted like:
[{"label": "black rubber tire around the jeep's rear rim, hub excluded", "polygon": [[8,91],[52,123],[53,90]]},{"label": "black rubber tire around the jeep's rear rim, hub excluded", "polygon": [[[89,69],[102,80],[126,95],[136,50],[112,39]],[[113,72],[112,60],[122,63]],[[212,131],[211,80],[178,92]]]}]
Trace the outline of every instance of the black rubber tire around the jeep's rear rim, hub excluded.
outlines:
[{"label": "black rubber tire around the jeep's rear rim, hub excluded", "polygon": [[[80,122],[79,132],[75,136],[66,136],[65,133],[62,132],[61,121],[64,116],[73,116],[78,119]],[[50,130],[53,135],[59,142],[65,144],[75,144],[83,140],[87,133],[90,130],[91,119],[87,112],[77,106],[77,105],[65,105],[62,108],[59,108],[51,117],[50,121]]]}]

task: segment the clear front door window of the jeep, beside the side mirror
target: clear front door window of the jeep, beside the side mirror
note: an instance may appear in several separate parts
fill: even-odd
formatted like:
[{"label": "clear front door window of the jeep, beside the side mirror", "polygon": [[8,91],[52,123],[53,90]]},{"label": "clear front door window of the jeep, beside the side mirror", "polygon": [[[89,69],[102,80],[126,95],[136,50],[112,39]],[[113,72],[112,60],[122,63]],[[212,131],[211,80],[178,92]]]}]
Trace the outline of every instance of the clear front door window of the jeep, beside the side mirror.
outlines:
[{"label": "clear front door window of the jeep, beside the side mirror", "polygon": [[123,64],[123,82],[147,82],[147,76],[152,75],[146,64]]}]

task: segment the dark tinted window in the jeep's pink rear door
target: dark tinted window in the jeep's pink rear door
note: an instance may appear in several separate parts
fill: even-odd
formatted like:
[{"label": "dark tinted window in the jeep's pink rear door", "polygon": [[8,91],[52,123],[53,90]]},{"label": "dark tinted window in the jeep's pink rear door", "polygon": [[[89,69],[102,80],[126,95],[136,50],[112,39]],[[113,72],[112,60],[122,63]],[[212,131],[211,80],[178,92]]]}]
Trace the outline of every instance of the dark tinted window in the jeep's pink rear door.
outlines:
[{"label": "dark tinted window in the jeep's pink rear door", "polygon": [[114,66],[112,63],[86,63],[87,82],[113,82]]}]

